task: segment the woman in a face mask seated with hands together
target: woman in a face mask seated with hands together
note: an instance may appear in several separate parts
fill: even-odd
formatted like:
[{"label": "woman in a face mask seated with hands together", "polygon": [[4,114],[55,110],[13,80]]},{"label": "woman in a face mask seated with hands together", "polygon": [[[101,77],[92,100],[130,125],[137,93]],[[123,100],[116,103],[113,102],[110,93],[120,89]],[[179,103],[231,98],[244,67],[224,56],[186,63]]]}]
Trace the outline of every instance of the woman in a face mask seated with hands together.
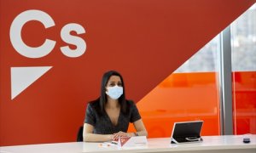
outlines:
[{"label": "woman in a face mask seated with hands together", "polygon": [[[127,133],[132,122],[136,133]],[[147,136],[137,106],[125,99],[125,83],[117,71],[102,77],[101,97],[87,105],[84,120],[84,141],[109,141],[119,137]]]}]

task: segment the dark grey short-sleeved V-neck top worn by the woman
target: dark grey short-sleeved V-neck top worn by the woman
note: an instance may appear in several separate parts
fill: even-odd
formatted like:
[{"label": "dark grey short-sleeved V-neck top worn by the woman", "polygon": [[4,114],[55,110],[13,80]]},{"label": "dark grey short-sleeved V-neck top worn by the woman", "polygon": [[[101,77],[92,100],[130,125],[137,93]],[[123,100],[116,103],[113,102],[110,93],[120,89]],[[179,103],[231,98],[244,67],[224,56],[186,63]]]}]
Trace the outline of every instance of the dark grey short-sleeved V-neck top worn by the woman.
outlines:
[{"label": "dark grey short-sleeved V-neck top worn by the woman", "polygon": [[99,106],[99,101],[96,100],[92,103],[88,103],[85,113],[84,123],[88,123],[94,127],[93,133],[97,134],[113,134],[119,131],[127,132],[129,122],[136,122],[141,119],[141,116],[137,110],[137,106],[131,100],[126,100],[127,106],[130,107],[127,113],[120,111],[117,125],[114,126],[111,122],[108,114],[103,112],[99,115],[96,111],[96,107]]}]

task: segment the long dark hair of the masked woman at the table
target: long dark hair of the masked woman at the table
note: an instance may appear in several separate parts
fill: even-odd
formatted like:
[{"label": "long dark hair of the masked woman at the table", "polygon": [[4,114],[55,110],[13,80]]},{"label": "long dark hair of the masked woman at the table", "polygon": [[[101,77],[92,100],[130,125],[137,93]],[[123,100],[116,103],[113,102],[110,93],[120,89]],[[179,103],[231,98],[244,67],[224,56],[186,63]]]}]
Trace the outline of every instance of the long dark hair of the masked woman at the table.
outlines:
[{"label": "long dark hair of the masked woman at the table", "polygon": [[105,112],[105,105],[107,104],[106,86],[107,86],[109,78],[112,76],[120,77],[121,82],[123,84],[123,94],[119,97],[119,105],[121,107],[120,111],[122,111],[122,113],[126,114],[126,112],[128,112],[127,109],[129,107],[127,107],[127,103],[126,103],[126,99],[125,99],[125,82],[123,80],[123,77],[117,71],[107,71],[106,73],[104,73],[104,75],[102,77],[101,97],[99,100],[100,110],[102,113]]}]

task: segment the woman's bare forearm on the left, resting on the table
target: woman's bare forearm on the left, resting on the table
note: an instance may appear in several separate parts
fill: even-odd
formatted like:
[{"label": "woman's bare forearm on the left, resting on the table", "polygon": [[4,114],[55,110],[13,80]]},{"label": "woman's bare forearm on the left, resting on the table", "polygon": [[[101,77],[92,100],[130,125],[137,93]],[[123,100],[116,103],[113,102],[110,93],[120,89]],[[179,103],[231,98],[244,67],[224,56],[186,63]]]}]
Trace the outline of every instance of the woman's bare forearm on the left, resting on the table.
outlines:
[{"label": "woman's bare forearm on the left, resting on the table", "polygon": [[87,142],[99,142],[99,141],[110,141],[113,139],[113,134],[95,134],[93,132],[93,126],[84,123],[83,138]]}]

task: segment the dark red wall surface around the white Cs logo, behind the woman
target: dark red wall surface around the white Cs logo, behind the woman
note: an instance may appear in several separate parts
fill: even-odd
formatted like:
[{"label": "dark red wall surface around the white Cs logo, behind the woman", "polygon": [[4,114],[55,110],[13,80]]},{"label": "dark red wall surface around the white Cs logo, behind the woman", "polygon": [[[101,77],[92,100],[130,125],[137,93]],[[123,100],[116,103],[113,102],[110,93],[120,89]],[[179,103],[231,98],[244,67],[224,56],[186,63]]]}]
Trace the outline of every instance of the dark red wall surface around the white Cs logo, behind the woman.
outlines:
[{"label": "dark red wall surface around the white Cs logo, behind the woman", "polygon": [[[104,71],[119,71],[127,97],[137,102],[254,2],[0,0],[0,145],[75,140],[87,102],[99,94]],[[56,42],[41,58],[19,54],[10,42],[13,20],[31,9],[44,11],[55,21],[55,26],[45,29],[32,20],[21,31],[26,45],[34,48],[46,38]],[[76,48],[61,39],[61,28],[70,23],[86,31],[72,32],[87,45],[77,58],[60,49]],[[52,68],[11,99],[11,67],[29,66]]]}]

